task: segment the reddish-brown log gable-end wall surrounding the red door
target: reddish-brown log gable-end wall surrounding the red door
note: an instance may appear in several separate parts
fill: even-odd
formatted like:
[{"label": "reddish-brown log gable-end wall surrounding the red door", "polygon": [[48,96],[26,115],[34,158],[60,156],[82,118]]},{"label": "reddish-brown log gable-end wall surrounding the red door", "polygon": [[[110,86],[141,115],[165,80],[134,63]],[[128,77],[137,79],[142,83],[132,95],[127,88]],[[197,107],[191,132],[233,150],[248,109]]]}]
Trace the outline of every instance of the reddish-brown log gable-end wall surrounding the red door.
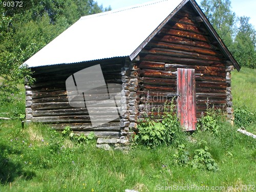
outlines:
[{"label": "reddish-brown log gable-end wall surrounding the red door", "polygon": [[138,104],[142,108],[147,91],[152,106],[163,105],[168,95],[176,94],[177,68],[191,68],[196,74],[203,74],[196,77],[197,118],[206,111],[208,102],[209,107],[214,105],[233,119],[230,92],[233,66],[190,3],[148,42],[135,63],[138,67]]}]

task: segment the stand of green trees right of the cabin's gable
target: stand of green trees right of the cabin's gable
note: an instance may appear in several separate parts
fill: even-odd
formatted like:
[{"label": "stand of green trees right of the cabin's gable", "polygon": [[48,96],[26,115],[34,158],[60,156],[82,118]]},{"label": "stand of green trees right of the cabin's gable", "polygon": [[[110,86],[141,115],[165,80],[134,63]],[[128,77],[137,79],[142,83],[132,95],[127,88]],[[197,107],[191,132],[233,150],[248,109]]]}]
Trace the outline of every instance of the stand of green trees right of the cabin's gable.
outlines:
[{"label": "stand of green trees right of the cabin's gable", "polygon": [[230,0],[203,0],[201,8],[240,66],[256,67],[256,32],[249,17],[237,17]]}]

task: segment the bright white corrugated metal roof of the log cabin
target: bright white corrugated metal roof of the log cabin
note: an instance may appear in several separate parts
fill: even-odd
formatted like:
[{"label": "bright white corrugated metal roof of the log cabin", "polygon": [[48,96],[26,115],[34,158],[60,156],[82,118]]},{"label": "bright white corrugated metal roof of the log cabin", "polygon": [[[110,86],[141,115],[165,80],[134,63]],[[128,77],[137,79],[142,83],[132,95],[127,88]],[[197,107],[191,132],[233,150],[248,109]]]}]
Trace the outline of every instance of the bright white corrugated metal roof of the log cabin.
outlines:
[{"label": "bright white corrugated metal roof of the log cabin", "polygon": [[182,0],[162,0],[81,17],[25,61],[29,67],[130,56]]}]

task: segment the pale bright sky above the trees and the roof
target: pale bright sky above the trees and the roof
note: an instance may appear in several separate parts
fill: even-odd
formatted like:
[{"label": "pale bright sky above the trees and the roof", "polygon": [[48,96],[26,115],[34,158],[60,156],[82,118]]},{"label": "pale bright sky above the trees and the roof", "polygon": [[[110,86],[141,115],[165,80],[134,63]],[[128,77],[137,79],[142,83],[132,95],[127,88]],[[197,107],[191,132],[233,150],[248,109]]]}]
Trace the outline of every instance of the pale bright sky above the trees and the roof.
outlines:
[{"label": "pale bright sky above the trees and the roof", "polygon": [[[127,6],[132,6],[136,4],[143,4],[150,2],[152,0],[95,0],[98,5],[103,5],[103,7],[111,6],[112,10],[119,9]],[[236,13],[237,16],[247,16],[250,17],[249,23],[256,29],[256,1],[255,0],[230,0],[231,10]],[[200,5],[200,0],[196,0]]]}]

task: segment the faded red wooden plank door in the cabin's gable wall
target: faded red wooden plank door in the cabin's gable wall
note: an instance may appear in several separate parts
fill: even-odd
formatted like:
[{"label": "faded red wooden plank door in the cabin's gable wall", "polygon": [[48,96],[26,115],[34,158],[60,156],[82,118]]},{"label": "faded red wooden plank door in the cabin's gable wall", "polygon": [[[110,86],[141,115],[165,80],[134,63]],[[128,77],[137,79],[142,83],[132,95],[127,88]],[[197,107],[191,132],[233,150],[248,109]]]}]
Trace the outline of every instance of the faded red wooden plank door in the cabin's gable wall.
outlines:
[{"label": "faded red wooden plank door in the cabin's gable wall", "polygon": [[196,79],[195,69],[177,70],[177,112],[186,131],[196,130]]}]

